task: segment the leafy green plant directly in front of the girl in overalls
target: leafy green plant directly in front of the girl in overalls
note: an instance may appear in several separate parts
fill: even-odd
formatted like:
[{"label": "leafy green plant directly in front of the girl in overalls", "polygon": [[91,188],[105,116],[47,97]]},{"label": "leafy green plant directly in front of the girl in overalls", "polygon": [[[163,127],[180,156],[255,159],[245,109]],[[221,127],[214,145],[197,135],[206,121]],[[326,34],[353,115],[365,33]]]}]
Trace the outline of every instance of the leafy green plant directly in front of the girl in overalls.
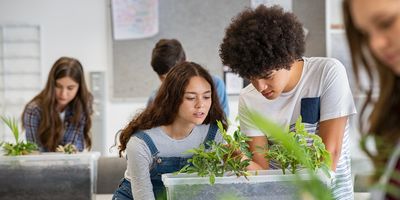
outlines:
[{"label": "leafy green plant directly in front of the girl in overalls", "polygon": [[209,149],[202,144],[199,148],[188,150],[187,152],[192,153],[193,157],[188,160],[189,164],[177,173],[197,173],[202,177],[209,176],[211,184],[215,183],[215,177],[222,177],[226,173],[245,177],[249,175],[246,167],[250,159],[242,160],[242,153],[251,158],[247,144],[249,138],[240,131],[240,128],[233,133],[232,137],[226,133],[221,122],[217,123],[226,144],[210,141]]}]

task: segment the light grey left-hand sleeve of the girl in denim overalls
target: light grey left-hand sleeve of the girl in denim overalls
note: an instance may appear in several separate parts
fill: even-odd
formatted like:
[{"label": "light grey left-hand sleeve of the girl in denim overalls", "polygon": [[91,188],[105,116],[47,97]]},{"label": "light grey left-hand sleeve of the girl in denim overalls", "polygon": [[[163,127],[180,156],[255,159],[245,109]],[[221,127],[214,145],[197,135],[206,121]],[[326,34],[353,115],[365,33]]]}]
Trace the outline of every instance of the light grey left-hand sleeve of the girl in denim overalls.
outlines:
[{"label": "light grey left-hand sleeve of the girl in denim overalls", "polygon": [[133,199],[155,199],[150,179],[150,166],[153,163],[150,149],[143,140],[131,137],[126,150],[128,158],[127,170],[131,175]]}]

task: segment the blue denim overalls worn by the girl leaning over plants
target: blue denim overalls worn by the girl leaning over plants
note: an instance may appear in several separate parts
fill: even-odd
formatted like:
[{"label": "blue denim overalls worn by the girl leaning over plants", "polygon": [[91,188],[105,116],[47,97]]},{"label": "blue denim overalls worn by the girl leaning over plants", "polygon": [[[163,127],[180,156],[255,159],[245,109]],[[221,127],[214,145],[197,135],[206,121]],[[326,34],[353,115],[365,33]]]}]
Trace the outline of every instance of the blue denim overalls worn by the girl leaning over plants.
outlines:
[{"label": "blue denim overalls worn by the girl leaning over plants", "polygon": [[[204,140],[206,149],[209,148],[208,141],[212,141],[215,138],[218,127],[216,124],[210,124],[207,136]],[[153,157],[153,164],[150,167],[150,178],[153,185],[153,193],[156,199],[167,199],[164,184],[161,180],[161,174],[172,173],[179,171],[184,167],[189,158],[181,157],[159,157],[157,156],[159,151],[154,145],[153,140],[145,132],[138,132],[132,137],[138,137],[142,139],[149,147],[151,155]],[[113,200],[133,200],[131,183],[125,178],[122,179],[118,189],[114,192]]]}]

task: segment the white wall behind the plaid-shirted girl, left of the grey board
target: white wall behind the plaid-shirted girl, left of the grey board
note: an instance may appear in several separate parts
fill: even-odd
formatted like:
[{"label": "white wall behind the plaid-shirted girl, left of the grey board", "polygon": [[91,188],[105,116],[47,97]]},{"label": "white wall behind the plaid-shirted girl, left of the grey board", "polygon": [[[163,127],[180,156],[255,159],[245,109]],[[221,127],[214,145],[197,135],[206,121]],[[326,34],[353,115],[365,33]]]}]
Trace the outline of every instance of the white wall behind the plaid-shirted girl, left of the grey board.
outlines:
[{"label": "white wall behind the plaid-shirted girl, left of the grey board", "polygon": [[[109,16],[109,0],[0,0],[1,25],[40,25],[42,85],[55,60],[71,56],[82,62],[86,75],[91,71],[106,72],[109,93],[112,69]],[[132,111],[143,105],[143,102],[112,103],[106,95],[107,146],[111,146],[113,134],[123,127]]]}]

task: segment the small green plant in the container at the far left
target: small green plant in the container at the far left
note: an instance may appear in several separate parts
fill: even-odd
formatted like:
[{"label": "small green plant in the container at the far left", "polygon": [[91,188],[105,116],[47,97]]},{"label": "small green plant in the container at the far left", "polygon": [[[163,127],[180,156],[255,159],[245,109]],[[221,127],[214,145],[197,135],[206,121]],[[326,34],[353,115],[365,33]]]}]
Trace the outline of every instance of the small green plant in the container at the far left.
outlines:
[{"label": "small green plant in the container at the far left", "polygon": [[19,140],[19,128],[18,122],[14,118],[6,118],[1,116],[1,120],[10,128],[12,134],[14,135],[15,144],[9,142],[1,142],[0,147],[3,147],[5,155],[7,156],[17,156],[30,154],[37,150],[36,144],[31,142],[23,142]]}]

